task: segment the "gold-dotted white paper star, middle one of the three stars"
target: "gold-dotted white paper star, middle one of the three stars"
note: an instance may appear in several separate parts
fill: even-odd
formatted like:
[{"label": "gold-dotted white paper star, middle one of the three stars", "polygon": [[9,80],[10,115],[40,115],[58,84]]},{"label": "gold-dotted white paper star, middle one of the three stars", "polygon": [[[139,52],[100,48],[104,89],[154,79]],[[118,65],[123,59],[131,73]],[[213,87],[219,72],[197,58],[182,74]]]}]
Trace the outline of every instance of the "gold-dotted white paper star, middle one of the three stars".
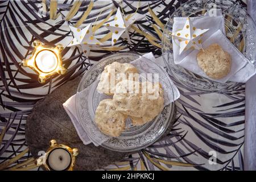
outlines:
[{"label": "gold-dotted white paper star, middle one of the three stars", "polygon": [[104,24],[104,26],[112,32],[112,46],[114,46],[114,44],[120,37],[131,43],[129,28],[134,22],[141,20],[144,17],[145,15],[134,13],[131,16],[126,16],[125,18],[123,17],[120,8],[118,7],[117,14],[115,14],[114,20],[112,22]]}]

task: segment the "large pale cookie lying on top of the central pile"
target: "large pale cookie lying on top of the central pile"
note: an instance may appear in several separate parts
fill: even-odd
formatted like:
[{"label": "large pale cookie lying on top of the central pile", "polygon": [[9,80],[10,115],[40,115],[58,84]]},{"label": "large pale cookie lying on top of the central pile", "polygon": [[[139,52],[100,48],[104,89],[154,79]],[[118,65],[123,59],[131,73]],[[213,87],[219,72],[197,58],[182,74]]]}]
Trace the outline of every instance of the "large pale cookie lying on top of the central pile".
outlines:
[{"label": "large pale cookie lying on top of the central pile", "polygon": [[[134,88],[133,92],[127,92],[129,84]],[[133,125],[139,126],[151,121],[163,110],[163,89],[160,84],[149,81],[123,80],[116,85],[113,101],[117,111],[129,115]]]}]

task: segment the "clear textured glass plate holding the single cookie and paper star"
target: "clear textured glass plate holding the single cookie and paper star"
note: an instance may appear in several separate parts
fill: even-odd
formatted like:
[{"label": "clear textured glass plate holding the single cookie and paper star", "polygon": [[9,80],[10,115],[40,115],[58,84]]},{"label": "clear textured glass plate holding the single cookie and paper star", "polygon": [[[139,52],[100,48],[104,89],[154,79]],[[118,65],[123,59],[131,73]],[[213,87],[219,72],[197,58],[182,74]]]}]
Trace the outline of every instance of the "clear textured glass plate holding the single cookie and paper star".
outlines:
[{"label": "clear textured glass plate holding the single cookie and paper star", "polygon": [[171,15],[166,23],[163,32],[162,53],[163,60],[170,69],[172,76],[177,78],[182,84],[196,90],[205,90],[209,92],[224,90],[235,86],[236,82],[228,81],[225,84],[209,80],[187,69],[174,64],[172,51],[172,24],[174,17],[190,16],[196,17],[203,15],[206,11],[212,9],[214,4],[216,9],[221,9],[225,18],[226,36],[242,53],[255,64],[256,55],[256,32],[253,19],[246,13],[246,9],[231,0],[192,0],[181,5]]}]

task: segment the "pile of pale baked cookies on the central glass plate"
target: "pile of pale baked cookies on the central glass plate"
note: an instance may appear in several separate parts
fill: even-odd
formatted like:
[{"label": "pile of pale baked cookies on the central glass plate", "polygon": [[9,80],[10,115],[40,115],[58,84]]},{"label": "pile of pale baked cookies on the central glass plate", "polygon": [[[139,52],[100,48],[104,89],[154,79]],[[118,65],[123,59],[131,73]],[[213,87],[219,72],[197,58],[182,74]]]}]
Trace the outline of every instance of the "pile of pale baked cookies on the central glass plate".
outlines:
[{"label": "pile of pale baked cookies on the central glass plate", "polygon": [[107,65],[102,72],[97,90],[113,98],[100,102],[95,122],[106,135],[118,137],[125,130],[128,117],[133,125],[140,126],[152,121],[163,110],[161,85],[139,82],[134,73],[138,75],[132,64],[118,62]]}]

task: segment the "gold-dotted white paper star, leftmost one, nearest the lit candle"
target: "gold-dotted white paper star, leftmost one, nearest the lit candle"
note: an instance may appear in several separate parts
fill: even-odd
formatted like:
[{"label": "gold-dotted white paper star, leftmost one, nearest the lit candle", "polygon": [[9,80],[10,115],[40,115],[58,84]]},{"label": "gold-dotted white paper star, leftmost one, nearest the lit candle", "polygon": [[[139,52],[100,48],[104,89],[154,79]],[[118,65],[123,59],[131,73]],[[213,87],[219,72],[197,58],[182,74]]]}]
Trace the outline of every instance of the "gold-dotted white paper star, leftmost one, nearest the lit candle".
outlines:
[{"label": "gold-dotted white paper star, leftmost one, nearest the lit candle", "polygon": [[100,46],[102,43],[98,41],[93,35],[92,23],[88,24],[85,28],[76,28],[69,26],[73,33],[73,40],[68,44],[68,47],[81,45],[82,51],[88,57],[92,46]]}]

